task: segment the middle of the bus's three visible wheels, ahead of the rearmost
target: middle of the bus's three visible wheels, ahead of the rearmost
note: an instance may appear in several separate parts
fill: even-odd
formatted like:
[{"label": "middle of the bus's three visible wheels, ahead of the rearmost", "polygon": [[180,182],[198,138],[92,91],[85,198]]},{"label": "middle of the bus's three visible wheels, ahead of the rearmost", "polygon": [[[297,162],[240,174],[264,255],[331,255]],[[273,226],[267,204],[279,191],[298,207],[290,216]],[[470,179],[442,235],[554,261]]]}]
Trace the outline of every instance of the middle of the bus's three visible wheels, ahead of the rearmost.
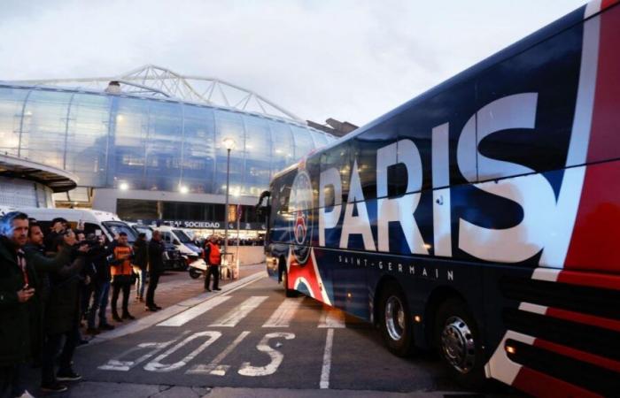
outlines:
[{"label": "middle of the bus's three visible wheels, ahead of the rearmost", "polygon": [[396,356],[414,353],[414,329],[407,298],[396,283],[384,287],[379,301],[379,327],[385,346]]}]

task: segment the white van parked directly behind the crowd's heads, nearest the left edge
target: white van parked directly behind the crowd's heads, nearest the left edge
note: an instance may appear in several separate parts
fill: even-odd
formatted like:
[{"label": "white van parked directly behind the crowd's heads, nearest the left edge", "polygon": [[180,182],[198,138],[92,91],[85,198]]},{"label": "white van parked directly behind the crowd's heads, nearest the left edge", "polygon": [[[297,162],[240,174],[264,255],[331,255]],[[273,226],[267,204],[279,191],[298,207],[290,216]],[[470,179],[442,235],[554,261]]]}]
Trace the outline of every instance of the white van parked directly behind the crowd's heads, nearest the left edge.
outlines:
[{"label": "white van parked directly behind the crowd's heads, nearest the left edge", "polygon": [[[84,233],[105,234],[108,241],[112,241],[118,233],[127,233],[130,243],[136,241],[136,231],[122,221],[114,213],[100,210],[86,209],[49,209],[49,208],[27,208],[22,207],[17,210],[23,211],[28,217],[35,218],[42,226],[43,231],[47,232],[54,218],[65,218],[73,229],[82,229]],[[100,232],[98,232],[100,231]]]}]

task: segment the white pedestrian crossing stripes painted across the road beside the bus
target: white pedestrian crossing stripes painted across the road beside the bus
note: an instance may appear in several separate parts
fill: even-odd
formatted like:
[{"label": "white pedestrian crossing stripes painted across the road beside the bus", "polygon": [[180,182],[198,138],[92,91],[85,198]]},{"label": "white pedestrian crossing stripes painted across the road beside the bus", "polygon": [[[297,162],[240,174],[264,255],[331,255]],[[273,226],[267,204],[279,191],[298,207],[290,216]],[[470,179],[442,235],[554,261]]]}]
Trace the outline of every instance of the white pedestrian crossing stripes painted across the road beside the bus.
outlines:
[{"label": "white pedestrian crossing stripes painted across the road beside the bus", "polygon": [[[188,310],[168,318],[157,324],[158,326],[179,327],[187,324],[191,320],[200,317],[206,312],[213,311],[221,304],[229,302],[233,295],[216,295],[205,302],[201,302]],[[235,327],[252,312],[258,310],[269,297],[266,295],[252,295],[239,302],[232,309],[227,311],[220,318],[216,318],[209,327]],[[270,314],[262,327],[264,328],[287,328],[296,318],[302,303],[307,299],[305,296],[286,298]],[[345,313],[333,307],[323,305],[322,313],[318,319],[317,328],[345,328]]]}]

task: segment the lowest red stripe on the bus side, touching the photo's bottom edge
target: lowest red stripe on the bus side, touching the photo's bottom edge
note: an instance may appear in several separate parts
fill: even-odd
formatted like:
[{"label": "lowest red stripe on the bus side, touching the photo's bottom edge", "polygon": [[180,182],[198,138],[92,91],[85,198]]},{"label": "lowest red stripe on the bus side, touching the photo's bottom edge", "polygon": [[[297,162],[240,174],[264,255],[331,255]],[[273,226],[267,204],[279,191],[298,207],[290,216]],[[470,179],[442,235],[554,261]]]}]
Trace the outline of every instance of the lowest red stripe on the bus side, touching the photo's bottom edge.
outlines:
[{"label": "lowest red stripe on the bus side, touching the photo's bottom edge", "polygon": [[566,381],[555,379],[545,373],[523,366],[516,375],[512,385],[534,396],[570,396],[579,398],[600,398],[584,388],[574,386]]}]

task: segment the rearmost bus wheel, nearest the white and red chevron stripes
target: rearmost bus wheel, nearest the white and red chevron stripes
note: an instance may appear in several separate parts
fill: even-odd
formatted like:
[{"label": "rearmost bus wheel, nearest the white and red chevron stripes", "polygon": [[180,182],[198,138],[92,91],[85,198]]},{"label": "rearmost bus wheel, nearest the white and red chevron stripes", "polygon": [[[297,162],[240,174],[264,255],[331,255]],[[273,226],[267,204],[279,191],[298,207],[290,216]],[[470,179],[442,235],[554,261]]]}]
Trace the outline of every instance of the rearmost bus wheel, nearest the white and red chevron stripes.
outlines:
[{"label": "rearmost bus wheel, nearest the white and red chevron stripes", "polygon": [[452,379],[464,387],[484,387],[484,353],[478,326],[466,302],[449,298],[436,313],[434,341]]}]

